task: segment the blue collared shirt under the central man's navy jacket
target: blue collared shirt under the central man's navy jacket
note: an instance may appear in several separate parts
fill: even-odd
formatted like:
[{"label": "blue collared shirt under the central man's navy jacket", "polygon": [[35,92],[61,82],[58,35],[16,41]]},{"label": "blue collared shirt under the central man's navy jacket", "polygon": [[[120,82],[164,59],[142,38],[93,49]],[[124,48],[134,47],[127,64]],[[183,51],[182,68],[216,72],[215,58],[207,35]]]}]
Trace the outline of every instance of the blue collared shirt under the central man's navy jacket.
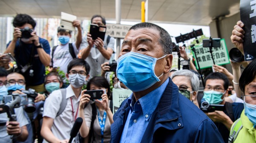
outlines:
[{"label": "blue collared shirt under the central man's navy jacket", "polygon": [[128,98],[130,108],[120,143],[139,143],[148,126],[151,115],[157,108],[163,92],[169,83],[167,79],[160,87],[151,91],[134,103],[134,95]]}]

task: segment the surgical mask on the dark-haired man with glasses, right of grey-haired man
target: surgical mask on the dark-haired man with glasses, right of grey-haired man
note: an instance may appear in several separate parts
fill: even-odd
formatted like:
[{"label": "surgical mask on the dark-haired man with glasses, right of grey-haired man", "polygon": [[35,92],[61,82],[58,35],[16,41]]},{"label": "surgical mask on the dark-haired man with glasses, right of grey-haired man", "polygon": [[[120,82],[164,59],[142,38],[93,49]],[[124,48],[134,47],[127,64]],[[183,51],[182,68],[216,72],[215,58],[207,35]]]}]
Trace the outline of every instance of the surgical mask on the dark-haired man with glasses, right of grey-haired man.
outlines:
[{"label": "surgical mask on the dark-haired man with glasses, right of grey-haired man", "polygon": [[[226,90],[224,91],[224,93],[225,92]],[[221,98],[224,93],[221,93],[215,90],[204,91],[203,99],[209,102],[209,104],[220,104],[223,101],[223,99]]]}]

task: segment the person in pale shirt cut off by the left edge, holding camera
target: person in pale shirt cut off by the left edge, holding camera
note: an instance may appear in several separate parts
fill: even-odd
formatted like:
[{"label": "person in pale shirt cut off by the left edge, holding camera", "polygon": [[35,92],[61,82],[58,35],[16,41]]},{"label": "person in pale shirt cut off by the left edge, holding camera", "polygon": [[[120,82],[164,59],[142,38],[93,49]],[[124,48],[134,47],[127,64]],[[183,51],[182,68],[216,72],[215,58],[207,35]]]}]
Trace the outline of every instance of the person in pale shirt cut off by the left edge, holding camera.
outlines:
[{"label": "person in pale shirt cut off by the left edge, holding camera", "polygon": [[[3,103],[3,96],[8,94],[6,88],[7,74],[7,71],[3,67],[0,67],[0,103]],[[2,110],[3,108],[0,108],[0,111]],[[26,127],[28,121],[23,114],[22,107],[15,108],[14,110],[17,115],[17,121],[9,122],[6,112],[0,113],[1,143],[13,143],[11,135],[13,135],[13,139],[17,141],[25,141],[28,137]]]}]

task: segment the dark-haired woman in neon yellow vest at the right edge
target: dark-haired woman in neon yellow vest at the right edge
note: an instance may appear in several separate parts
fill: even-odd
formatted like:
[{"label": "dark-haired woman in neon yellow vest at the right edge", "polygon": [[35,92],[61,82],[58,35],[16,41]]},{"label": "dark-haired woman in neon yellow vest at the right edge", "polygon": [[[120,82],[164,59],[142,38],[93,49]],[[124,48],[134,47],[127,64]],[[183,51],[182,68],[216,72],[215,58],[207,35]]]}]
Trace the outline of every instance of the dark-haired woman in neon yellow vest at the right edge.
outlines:
[{"label": "dark-haired woman in neon yellow vest at the right edge", "polygon": [[239,79],[244,111],[230,130],[231,143],[256,143],[256,59],[244,69]]}]

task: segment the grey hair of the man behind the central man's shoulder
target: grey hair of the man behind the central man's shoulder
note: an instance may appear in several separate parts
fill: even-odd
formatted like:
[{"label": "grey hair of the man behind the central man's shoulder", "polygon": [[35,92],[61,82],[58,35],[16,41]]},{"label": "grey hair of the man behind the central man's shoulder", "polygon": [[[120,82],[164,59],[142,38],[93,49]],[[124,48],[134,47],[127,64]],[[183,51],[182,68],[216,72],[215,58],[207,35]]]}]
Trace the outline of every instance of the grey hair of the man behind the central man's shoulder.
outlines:
[{"label": "grey hair of the man behind the central man's shoulder", "polygon": [[186,76],[189,78],[190,80],[190,84],[191,84],[191,88],[193,91],[198,91],[199,88],[199,78],[198,76],[195,75],[195,73],[193,73],[190,70],[177,70],[175,71],[172,76],[171,79],[173,79],[175,76]]}]

